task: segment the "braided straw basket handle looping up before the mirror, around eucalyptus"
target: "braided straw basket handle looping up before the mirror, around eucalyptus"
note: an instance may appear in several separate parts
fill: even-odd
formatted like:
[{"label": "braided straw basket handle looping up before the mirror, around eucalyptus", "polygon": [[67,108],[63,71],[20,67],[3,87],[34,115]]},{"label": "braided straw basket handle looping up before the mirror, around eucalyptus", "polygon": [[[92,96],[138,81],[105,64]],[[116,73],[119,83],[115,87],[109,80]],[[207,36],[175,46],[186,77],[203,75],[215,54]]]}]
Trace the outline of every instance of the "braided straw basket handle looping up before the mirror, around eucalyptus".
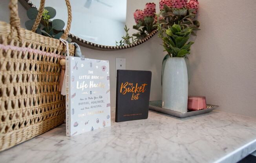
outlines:
[{"label": "braided straw basket handle looping up before the mirror, around eucalyptus", "polygon": [[[72,12],[71,12],[71,5],[70,5],[69,0],[65,0],[65,1],[66,1],[66,5],[68,8],[68,24],[67,24],[67,27],[66,27],[64,33],[62,34],[62,36],[60,38],[67,40],[69,31],[70,31],[70,27],[71,27],[71,22],[72,22]],[[32,32],[35,32],[37,30],[37,27],[41,21],[42,14],[44,12],[44,2],[45,2],[45,0],[41,0],[41,2],[40,2],[40,8],[38,11],[37,18],[35,20],[35,24],[32,27]]]}]

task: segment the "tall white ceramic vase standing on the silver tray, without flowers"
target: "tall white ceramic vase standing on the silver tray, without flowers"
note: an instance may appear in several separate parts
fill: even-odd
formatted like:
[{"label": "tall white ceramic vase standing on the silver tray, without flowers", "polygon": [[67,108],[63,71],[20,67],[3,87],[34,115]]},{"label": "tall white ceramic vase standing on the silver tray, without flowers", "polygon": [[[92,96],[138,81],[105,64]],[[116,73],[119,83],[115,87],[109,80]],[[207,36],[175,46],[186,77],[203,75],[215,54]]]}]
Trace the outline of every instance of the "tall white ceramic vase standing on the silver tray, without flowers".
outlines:
[{"label": "tall white ceramic vase standing on the silver tray, without flowers", "polygon": [[187,112],[188,72],[184,58],[169,57],[163,75],[162,107],[177,112]]}]

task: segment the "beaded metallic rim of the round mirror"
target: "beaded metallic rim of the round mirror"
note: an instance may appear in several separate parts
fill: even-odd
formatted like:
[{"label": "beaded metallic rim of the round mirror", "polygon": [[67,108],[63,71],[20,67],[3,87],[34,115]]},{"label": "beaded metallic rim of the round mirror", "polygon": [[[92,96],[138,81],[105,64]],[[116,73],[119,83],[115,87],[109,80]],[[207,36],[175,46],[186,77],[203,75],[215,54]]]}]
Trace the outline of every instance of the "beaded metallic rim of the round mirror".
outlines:
[{"label": "beaded metallic rim of the round mirror", "polygon": [[[36,8],[34,4],[32,4],[31,0],[19,0],[20,4],[25,7],[25,9],[29,8]],[[72,39],[72,42],[77,43],[78,45],[81,45],[83,47],[88,47],[90,49],[100,50],[100,51],[116,51],[121,49],[128,49],[131,47],[135,47],[137,45],[140,45],[146,41],[148,41],[150,38],[152,38],[157,33],[157,30],[152,31],[148,36],[146,36],[143,40],[140,40],[139,42],[132,43],[130,45],[123,45],[123,46],[106,46],[106,45],[100,45],[97,43],[88,42],[82,38],[79,38],[71,33],[68,34],[69,38]]]}]

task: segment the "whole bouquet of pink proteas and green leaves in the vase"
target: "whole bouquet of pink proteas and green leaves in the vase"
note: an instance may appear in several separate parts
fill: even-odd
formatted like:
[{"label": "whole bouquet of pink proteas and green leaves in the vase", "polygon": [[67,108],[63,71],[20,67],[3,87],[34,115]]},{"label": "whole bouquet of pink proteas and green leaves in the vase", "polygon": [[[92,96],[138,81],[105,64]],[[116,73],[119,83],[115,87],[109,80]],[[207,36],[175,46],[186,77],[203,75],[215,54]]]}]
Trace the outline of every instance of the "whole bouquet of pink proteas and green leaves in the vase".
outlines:
[{"label": "whole bouquet of pink proteas and green leaves in the vase", "polygon": [[198,10],[198,1],[160,0],[159,7],[155,26],[165,51],[170,57],[186,57],[194,43],[188,42],[189,36],[195,35],[194,30],[199,30],[199,22],[193,20]]}]

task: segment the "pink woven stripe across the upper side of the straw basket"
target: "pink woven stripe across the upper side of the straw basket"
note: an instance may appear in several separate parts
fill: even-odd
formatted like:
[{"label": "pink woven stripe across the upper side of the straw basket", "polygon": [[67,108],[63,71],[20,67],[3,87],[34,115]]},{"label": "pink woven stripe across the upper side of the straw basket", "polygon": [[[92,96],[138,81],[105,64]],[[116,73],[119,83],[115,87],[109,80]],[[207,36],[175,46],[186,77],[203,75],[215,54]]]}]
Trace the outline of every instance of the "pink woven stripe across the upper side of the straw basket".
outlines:
[{"label": "pink woven stripe across the upper side of the straw basket", "polygon": [[53,56],[53,57],[61,58],[61,59],[66,58],[65,56],[62,56],[62,55],[59,55],[59,54],[48,53],[48,52],[45,52],[45,51],[40,51],[40,50],[32,49],[32,48],[29,48],[29,47],[16,47],[16,46],[12,46],[12,45],[0,44],[0,49],[4,49],[5,51],[11,49],[13,51],[22,51],[24,53],[26,53],[26,52],[37,53],[37,54],[41,54],[43,56]]}]

